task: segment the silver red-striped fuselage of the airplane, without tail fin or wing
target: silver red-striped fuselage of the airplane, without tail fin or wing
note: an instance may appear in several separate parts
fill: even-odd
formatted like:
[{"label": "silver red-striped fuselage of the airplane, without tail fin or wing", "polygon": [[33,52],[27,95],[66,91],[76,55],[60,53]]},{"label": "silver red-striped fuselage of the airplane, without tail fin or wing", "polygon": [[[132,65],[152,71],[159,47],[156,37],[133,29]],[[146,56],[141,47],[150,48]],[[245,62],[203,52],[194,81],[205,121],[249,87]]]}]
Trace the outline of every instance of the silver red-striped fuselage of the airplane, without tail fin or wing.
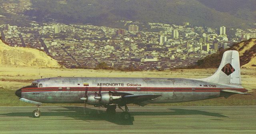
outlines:
[{"label": "silver red-striped fuselage of the airplane, without tail fin or wing", "polygon": [[41,103],[84,103],[85,93],[125,92],[162,95],[150,103],[176,103],[220,97],[221,89],[245,92],[240,84],[217,84],[181,78],[45,78],[22,88],[22,98]]}]

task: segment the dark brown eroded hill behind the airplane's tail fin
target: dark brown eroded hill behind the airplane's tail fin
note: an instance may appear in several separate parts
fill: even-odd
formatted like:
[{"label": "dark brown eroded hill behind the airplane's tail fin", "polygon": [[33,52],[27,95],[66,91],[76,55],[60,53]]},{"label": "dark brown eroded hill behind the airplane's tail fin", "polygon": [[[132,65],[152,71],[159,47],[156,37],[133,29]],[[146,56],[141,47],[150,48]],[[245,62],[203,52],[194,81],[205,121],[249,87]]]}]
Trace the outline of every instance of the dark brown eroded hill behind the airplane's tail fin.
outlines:
[{"label": "dark brown eroded hill behind the airplane's tail fin", "polygon": [[222,55],[226,50],[237,50],[239,52],[241,67],[256,68],[256,39],[252,38],[198,60],[198,66],[193,66],[192,68],[218,68]]}]

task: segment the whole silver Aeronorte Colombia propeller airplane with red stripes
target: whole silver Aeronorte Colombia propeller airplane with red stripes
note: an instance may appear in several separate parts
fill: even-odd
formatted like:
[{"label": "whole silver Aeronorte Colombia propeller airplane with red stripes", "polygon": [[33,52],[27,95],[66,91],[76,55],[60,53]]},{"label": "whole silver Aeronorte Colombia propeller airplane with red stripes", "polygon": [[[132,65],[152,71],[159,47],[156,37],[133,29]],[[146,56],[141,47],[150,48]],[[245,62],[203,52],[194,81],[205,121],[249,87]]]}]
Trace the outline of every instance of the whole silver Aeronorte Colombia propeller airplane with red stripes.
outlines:
[{"label": "whole silver Aeronorte Colombia propeller airplane with red stripes", "polygon": [[104,107],[110,115],[118,107],[123,111],[121,117],[127,120],[131,117],[127,104],[145,106],[250,95],[247,91],[241,85],[239,53],[228,50],[218,70],[208,78],[44,78],[18,89],[15,94],[20,101],[38,106],[33,111],[35,118],[41,115],[42,103],[84,103]]}]

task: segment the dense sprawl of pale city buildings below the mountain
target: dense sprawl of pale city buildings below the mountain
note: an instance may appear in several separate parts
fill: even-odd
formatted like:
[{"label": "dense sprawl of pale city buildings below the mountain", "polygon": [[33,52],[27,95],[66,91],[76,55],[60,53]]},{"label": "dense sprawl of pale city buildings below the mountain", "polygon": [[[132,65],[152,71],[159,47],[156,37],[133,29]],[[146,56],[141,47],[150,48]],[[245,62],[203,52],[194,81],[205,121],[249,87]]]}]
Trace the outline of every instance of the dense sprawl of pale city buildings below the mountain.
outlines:
[{"label": "dense sprawl of pale city buildings below the mountain", "polygon": [[224,30],[224,35],[218,35],[217,29],[210,27],[144,24],[149,25],[152,32],[138,31],[133,21],[121,22],[130,24],[128,30],[131,31],[95,25],[36,22],[30,23],[30,27],[2,24],[0,31],[1,38],[10,46],[44,50],[67,68],[91,69],[102,62],[117,69],[131,65],[139,70],[186,67],[220,48],[256,37],[255,29],[234,29],[235,35],[227,41]]}]

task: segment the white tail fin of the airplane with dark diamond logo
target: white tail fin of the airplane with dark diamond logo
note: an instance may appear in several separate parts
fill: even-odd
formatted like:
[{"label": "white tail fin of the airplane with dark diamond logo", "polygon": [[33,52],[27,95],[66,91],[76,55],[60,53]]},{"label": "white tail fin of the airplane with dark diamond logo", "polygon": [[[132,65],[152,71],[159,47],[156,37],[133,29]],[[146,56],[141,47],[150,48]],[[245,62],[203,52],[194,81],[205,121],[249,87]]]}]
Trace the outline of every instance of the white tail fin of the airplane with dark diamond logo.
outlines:
[{"label": "white tail fin of the airplane with dark diamond logo", "polygon": [[224,52],[218,70],[203,80],[220,84],[241,84],[238,51],[228,50]]}]

